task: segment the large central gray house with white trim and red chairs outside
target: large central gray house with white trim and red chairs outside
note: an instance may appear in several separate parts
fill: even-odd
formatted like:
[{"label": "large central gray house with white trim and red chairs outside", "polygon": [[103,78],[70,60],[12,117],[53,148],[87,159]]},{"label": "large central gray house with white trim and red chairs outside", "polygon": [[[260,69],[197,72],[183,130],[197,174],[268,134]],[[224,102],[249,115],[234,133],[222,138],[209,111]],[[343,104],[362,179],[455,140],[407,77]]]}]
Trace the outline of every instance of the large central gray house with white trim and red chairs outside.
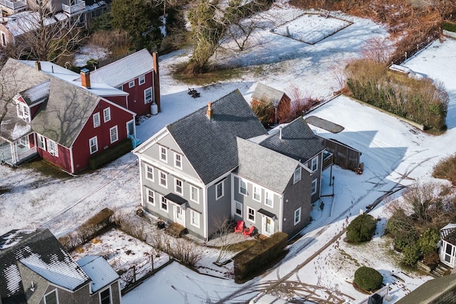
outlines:
[{"label": "large central gray house with white trim and red chairs outside", "polygon": [[202,239],[224,216],[266,236],[301,231],[320,197],[323,151],[302,117],[268,135],[239,90],[133,150],[145,213]]}]

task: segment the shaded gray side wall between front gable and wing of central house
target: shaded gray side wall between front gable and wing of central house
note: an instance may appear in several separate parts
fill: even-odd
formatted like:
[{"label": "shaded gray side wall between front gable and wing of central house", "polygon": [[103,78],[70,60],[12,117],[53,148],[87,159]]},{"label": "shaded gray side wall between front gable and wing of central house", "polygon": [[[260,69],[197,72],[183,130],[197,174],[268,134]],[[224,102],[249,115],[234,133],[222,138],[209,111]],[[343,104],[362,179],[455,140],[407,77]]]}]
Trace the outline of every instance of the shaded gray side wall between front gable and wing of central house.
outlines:
[{"label": "shaded gray side wall between front gable and wing of central house", "polygon": [[[224,187],[224,195],[216,199],[215,191],[217,184],[222,181]],[[217,180],[214,184],[207,188],[207,226],[208,237],[217,232],[219,224],[229,214],[231,214],[231,176]]]}]

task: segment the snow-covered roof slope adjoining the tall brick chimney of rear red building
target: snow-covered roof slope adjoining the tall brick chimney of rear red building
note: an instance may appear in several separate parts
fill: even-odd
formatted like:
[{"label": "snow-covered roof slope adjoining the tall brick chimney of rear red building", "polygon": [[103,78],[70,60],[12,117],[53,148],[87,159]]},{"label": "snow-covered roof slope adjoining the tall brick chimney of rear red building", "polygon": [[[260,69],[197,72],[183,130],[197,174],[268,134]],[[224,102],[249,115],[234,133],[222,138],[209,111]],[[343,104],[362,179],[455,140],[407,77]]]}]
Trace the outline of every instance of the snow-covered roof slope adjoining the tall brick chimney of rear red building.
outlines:
[{"label": "snow-covered roof slope adjoining the tall brick chimney of rear red building", "polygon": [[[119,73],[119,71],[122,73]],[[90,72],[90,81],[117,87],[153,70],[152,55],[147,49],[133,53]]]}]

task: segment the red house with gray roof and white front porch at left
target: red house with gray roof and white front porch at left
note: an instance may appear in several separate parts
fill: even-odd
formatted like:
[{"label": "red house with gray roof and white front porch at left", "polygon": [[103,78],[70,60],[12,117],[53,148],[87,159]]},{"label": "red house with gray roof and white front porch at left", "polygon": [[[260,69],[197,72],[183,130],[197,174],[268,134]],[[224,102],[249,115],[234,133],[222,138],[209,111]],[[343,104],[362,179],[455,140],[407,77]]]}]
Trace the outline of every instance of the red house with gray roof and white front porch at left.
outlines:
[{"label": "red house with gray roof and white front porch at left", "polygon": [[[0,162],[19,164],[38,154],[63,170],[88,167],[94,154],[130,137],[135,142],[135,112],[118,105],[128,93],[90,83],[88,70],[77,73],[49,62],[10,58],[0,71],[6,92],[0,108]],[[10,96],[10,98],[5,98]]]}]

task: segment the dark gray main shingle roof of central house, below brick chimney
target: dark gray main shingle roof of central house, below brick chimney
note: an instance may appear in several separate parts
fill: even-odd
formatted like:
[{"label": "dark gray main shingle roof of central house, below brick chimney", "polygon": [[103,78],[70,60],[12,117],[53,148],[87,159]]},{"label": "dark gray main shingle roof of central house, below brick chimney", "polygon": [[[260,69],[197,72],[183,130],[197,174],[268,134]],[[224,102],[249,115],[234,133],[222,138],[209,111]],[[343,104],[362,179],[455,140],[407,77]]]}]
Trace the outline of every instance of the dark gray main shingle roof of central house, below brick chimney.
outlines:
[{"label": "dark gray main shingle roof of central house, below brick chimney", "polygon": [[204,184],[237,167],[236,137],[266,134],[239,90],[212,103],[212,119],[206,110],[201,108],[167,125]]}]

